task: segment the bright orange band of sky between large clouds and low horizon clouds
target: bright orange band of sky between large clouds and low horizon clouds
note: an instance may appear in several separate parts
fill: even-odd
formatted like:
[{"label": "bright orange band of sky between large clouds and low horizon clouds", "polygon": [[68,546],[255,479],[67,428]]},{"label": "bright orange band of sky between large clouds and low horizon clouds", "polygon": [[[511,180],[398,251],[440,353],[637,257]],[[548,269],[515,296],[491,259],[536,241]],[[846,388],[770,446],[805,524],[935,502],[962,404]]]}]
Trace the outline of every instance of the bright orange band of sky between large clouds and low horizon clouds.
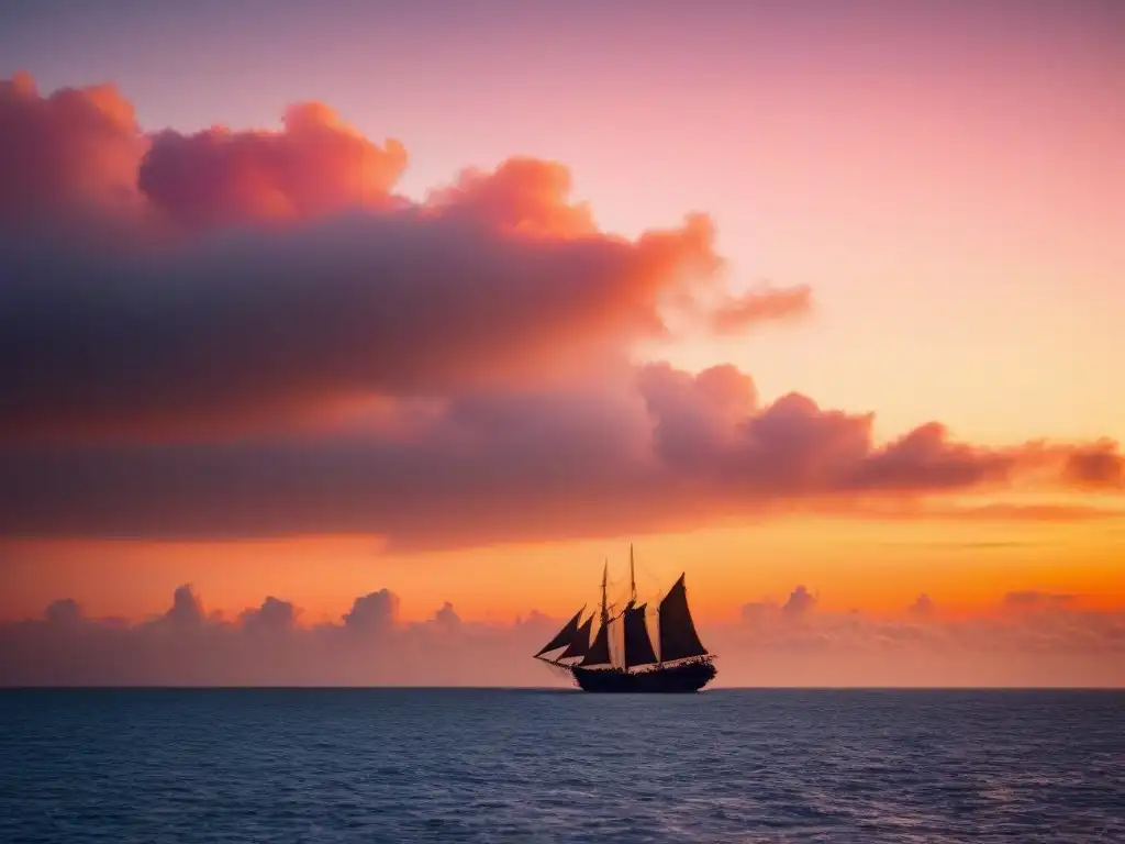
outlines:
[{"label": "bright orange band of sky between large clouds and low horizon clouds", "polygon": [[[56,598],[90,616],[162,613],[190,583],[208,612],[235,618],[267,595],[302,609],[304,623],[339,620],[361,594],[389,589],[406,621],[452,602],[465,619],[510,622],[531,610],[564,617],[597,601],[604,558],[618,591],[637,549],[641,596],[658,600],[685,571],[704,621],[734,620],[746,603],[784,603],[798,585],[818,609],[902,617],[921,593],[946,618],[990,614],[1008,592],[1073,596],[1076,609],[1125,609],[1119,548],[1125,520],[912,522],[790,517],[754,527],[569,542],[512,544],[395,555],[375,537],[237,542],[8,542],[15,589],[0,618],[37,617]],[[1060,565],[1060,558],[1065,565]],[[310,576],[310,573],[316,574]],[[487,576],[482,576],[487,572]],[[66,583],[66,594],[57,584]]]}]

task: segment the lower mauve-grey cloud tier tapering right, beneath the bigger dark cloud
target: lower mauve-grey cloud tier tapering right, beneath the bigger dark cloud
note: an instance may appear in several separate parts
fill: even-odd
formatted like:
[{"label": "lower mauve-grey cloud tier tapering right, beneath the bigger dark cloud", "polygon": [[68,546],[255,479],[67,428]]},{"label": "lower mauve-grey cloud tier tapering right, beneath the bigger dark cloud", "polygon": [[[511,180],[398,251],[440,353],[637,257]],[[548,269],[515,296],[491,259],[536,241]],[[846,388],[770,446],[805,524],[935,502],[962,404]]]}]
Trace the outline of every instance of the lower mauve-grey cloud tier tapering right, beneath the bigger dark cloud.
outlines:
[{"label": "lower mauve-grey cloud tier tapering right, beneath the bigger dark cloud", "polygon": [[762,405],[727,366],[650,365],[380,413],[331,432],[0,445],[0,535],[364,532],[400,548],[574,538],[771,508],[901,508],[1002,486],[1044,459],[1034,445],[974,448],[934,425],[880,446],[870,414],[798,394]]}]

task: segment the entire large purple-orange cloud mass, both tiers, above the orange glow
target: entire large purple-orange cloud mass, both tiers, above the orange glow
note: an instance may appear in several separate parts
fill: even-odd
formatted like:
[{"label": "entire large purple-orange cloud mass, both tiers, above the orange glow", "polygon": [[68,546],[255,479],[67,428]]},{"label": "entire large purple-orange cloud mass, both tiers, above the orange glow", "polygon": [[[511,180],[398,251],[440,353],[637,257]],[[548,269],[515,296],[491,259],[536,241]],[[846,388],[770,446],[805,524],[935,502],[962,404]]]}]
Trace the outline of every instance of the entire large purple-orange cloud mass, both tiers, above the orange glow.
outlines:
[{"label": "entire large purple-orange cloud mass, both tiers, above the orange glow", "polygon": [[728,291],[704,215],[602,231],[555,162],[412,201],[402,144],[323,105],[145,135],[112,87],[27,77],[0,128],[3,536],[435,546],[901,509],[1036,473],[1110,487],[1119,467],[1112,442],[987,448],[937,422],[880,443],[873,414],[763,402],[735,367],[634,362],[669,311],[744,329],[809,290]]}]

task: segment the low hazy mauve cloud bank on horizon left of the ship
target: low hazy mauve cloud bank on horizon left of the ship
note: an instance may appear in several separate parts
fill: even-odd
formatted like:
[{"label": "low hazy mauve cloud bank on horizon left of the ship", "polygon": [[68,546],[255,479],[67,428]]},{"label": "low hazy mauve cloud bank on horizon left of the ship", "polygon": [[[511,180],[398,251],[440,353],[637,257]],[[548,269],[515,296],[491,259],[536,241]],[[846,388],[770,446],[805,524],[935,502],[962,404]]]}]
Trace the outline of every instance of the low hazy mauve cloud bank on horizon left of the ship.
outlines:
[{"label": "low hazy mauve cloud bank on horizon left of the ship", "polygon": [[[138,623],[87,618],[56,601],[42,619],[0,623],[6,685],[549,685],[529,655],[560,621],[531,613],[507,625],[464,622],[447,603],[403,622],[377,590],[336,622],[302,626],[299,609],[267,598],[235,621],[204,617],[190,586]],[[65,609],[61,609],[65,608]],[[198,610],[198,611],[197,611]]]}]

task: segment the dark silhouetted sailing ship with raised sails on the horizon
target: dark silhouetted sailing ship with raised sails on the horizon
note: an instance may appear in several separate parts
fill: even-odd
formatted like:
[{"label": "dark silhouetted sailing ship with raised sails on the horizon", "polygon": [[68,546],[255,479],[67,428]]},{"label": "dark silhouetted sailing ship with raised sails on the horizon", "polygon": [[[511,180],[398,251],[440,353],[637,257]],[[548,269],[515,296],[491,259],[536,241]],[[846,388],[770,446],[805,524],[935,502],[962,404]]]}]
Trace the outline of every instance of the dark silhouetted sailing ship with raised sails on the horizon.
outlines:
[{"label": "dark silhouetted sailing ship with raised sails on the horizon", "polygon": [[[534,658],[572,675],[585,692],[698,692],[718,673],[714,655],[700,641],[687,607],[684,574],[660,601],[657,647],[648,631],[648,604],[637,603],[637,577],[629,546],[629,602],[616,616],[608,600],[609,562],[602,572],[601,612],[585,621],[578,610]],[[594,619],[597,635],[590,638]],[[554,657],[547,656],[561,649]]]}]

